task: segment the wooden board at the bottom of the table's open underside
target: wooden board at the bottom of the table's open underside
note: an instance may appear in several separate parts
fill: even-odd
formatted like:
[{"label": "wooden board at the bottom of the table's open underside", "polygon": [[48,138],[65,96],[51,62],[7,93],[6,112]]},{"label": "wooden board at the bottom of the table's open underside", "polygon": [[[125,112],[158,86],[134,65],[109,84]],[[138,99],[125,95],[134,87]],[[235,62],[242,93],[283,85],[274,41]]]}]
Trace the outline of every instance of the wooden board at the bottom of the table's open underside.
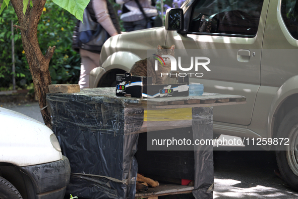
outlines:
[{"label": "wooden board at the bottom of the table's open underside", "polygon": [[155,188],[149,188],[147,192],[137,192],[135,198],[150,198],[161,195],[191,193],[193,189],[193,186],[160,184]]}]

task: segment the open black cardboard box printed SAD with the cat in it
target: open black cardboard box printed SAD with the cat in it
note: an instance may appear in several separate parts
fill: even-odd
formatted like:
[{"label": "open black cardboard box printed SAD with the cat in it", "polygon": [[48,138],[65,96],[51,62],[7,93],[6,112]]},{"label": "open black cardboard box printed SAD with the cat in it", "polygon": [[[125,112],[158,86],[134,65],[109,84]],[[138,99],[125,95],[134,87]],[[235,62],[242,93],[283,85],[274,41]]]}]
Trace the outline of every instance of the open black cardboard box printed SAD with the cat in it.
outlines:
[{"label": "open black cardboard box printed SAD with the cat in it", "polygon": [[189,95],[189,76],[178,77],[178,83],[174,84],[152,84],[152,77],[125,73],[116,75],[116,83],[116,96],[158,98]]}]

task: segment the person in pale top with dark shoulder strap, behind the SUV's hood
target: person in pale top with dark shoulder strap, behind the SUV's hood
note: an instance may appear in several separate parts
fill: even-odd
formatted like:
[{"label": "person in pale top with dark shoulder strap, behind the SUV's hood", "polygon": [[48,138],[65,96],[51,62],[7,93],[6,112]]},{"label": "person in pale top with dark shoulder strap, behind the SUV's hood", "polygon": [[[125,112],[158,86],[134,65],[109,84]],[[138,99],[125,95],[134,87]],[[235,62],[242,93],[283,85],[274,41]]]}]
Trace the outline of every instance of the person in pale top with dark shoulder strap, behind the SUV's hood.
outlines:
[{"label": "person in pale top with dark shoulder strap, behind the SUV's hood", "polygon": [[[115,0],[117,4],[123,4],[122,15],[120,19],[123,21],[125,31],[134,31],[148,28],[148,21],[151,17],[157,16],[157,9],[154,7],[154,0]],[[143,8],[144,14],[140,10],[138,4]]]}]

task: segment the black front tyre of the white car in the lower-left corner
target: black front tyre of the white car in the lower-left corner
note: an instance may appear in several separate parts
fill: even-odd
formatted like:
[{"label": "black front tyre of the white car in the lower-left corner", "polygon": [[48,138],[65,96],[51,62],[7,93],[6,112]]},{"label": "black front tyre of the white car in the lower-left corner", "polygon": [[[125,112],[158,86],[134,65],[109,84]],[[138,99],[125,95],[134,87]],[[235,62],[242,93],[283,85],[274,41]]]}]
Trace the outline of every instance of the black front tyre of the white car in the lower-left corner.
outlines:
[{"label": "black front tyre of the white car in the lower-left corner", "polygon": [[0,176],[0,199],[22,199],[23,197],[8,180]]}]

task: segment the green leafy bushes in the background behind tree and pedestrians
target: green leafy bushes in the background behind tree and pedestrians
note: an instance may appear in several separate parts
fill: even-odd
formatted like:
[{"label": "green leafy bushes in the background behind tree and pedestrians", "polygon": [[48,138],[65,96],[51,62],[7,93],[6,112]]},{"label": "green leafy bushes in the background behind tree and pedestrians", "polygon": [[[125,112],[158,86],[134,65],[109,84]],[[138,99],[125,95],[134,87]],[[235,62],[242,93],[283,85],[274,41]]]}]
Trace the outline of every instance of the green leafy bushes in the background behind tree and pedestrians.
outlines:
[{"label": "green leafy bushes in the background behind tree and pedestrians", "polygon": [[[108,0],[117,12],[120,25],[122,6],[115,4],[114,0]],[[160,12],[160,1],[156,0],[156,8],[159,15],[165,15],[168,8],[178,8],[183,0],[163,0],[164,12]],[[3,0],[0,0],[2,4]],[[11,20],[19,24],[13,7],[10,5],[0,15],[0,91],[12,90],[12,32]],[[42,52],[46,52],[48,46],[55,45],[55,53],[49,64],[52,84],[78,83],[80,75],[80,55],[72,49],[73,29],[77,19],[68,11],[54,4],[51,0],[46,1],[45,8],[38,24],[38,40]],[[123,26],[122,26],[123,27]],[[122,28],[124,31],[124,29]],[[15,67],[17,89],[33,88],[32,76],[23,51],[20,31],[14,30],[15,42]]]}]

